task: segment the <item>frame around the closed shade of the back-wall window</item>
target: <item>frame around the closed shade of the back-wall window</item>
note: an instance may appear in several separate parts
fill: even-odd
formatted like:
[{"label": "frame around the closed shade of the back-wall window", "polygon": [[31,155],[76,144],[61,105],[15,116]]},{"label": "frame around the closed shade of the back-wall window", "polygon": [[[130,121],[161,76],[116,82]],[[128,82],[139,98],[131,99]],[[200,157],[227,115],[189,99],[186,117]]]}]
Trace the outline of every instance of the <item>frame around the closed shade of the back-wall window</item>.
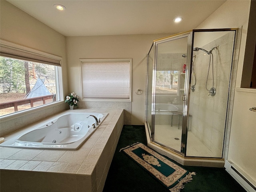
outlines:
[{"label": "frame around the closed shade of the back-wall window", "polygon": [[[79,59],[80,60],[80,70],[81,70],[81,90],[82,90],[82,101],[98,101],[98,102],[132,102],[132,58],[110,58],[110,59]],[[130,62],[130,88],[129,88],[129,98],[84,98],[84,86],[83,86],[83,62]]]}]

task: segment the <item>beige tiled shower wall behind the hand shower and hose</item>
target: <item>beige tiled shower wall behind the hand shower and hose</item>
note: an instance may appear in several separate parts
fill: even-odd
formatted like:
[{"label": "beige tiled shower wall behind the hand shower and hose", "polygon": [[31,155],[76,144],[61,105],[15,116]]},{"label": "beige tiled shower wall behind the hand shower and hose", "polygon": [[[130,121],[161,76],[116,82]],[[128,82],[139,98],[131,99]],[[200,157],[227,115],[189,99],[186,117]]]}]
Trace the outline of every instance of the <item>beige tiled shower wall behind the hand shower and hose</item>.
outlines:
[{"label": "beige tiled shower wall behind the hand shower and hose", "polygon": [[[218,157],[222,156],[222,146],[224,142],[233,40],[234,32],[229,32],[202,47],[206,50],[210,50],[217,45],[219,46],[218,50],[212,51],[214,56],[215,96],[208,96],[208,91],[206,90],[209,55],[199,51],[194,52],[196,58],[193,58],[196,73],[196,89],[194,92],[190,92],[190,130]],[[194,76],[192,78],[191,84],[194,84]],[[212,64],[210,66],[207,83],[208,90],[211,87]]]}]

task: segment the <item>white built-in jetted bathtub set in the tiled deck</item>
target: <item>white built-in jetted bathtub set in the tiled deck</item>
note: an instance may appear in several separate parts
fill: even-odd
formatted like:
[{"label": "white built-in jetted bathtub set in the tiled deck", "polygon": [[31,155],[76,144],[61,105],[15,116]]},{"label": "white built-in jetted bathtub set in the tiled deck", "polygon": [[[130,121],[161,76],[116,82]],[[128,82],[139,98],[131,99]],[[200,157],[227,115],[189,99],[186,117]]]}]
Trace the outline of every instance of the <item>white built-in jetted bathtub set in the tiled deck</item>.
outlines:
[{"label": "white built-in jetted bathtub set in the tiled deck", "polygon": [[[100,120],[98,125],[95,118],[89,115]],[[11,138],[0,146],[76,150],[93,134],[106,116],[107,113],[66,112],[54,119],[49,118],[47,123]]]}]

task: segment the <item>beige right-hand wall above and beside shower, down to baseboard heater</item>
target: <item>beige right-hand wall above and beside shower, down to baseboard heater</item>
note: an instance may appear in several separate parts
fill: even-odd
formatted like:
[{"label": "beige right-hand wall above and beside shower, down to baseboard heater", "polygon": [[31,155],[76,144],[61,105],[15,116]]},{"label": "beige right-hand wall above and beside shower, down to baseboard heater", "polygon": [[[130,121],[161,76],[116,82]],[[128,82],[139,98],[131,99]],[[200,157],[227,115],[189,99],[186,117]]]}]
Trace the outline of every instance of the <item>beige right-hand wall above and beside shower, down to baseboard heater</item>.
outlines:
[{"label": "beige right-hand wall above and beside shower, down to baseboard heater", "polygon": [[[249,0],[228,0],[197,27],[238,28],[242,26],[236,87],[240,87],[241,84],[249,12]],[[243,170],[254,181],[256,181],[256,157],[254,155],[256,116],[255,112],[249,111],[249,108],[255,106],[255,98],[256,92],[254,90],[235,91],[231,131],[227,134],[229,143],[226,144],[229,148],[227,160],[233,162],[235,166]]]}]

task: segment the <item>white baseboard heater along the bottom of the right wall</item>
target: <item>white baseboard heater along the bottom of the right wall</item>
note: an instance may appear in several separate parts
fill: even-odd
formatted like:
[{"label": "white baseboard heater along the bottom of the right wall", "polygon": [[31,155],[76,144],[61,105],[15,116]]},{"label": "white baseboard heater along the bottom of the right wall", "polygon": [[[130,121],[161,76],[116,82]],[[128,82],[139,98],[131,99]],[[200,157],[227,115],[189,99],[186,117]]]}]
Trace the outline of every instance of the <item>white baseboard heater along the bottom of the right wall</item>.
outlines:
[{"label": "white baseboard heater along the bottom of the right wall", "polygon": [[234,165],[232,162],[225,160],[224,167],[226,171],[247,191],[256,192],[256,181],[250,178],[245,172]]}]

